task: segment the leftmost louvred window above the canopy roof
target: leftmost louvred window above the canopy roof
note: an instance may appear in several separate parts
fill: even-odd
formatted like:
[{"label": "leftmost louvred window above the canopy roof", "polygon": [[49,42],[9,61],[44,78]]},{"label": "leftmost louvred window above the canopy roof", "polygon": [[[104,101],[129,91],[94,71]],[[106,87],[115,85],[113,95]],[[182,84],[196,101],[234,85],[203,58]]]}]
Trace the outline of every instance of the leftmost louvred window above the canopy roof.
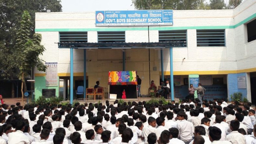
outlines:
[{"label": "leftmost louvred window above the canopy roof", "polygon": [[87,42],[87,32],[60,32],[60,42]]}]

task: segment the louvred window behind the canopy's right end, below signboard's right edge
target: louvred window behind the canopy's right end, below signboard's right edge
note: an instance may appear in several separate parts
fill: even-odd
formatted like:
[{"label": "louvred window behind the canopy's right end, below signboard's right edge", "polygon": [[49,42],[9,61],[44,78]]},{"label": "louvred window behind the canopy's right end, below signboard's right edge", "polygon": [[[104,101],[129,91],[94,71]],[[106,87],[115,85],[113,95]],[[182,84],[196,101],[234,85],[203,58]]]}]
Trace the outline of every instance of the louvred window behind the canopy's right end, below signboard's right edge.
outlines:
[{"label": "louvred window behind the canopy's right end, below signboard's right edge", "polygon": [[187,47],[187,30],[158,31],[159,42],[184,42],[181,47]]}]

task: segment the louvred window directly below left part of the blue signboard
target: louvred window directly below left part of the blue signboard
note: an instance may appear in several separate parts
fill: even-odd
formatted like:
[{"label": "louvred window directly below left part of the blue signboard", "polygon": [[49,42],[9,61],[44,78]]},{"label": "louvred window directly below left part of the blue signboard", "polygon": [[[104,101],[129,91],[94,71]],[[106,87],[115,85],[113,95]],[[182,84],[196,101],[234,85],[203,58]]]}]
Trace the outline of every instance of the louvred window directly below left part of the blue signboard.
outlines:
[{"label": "louvred window directly below left part of the blue signboard", "polygon": [[98,42],[125,42],[125,31],[98,31]]}]

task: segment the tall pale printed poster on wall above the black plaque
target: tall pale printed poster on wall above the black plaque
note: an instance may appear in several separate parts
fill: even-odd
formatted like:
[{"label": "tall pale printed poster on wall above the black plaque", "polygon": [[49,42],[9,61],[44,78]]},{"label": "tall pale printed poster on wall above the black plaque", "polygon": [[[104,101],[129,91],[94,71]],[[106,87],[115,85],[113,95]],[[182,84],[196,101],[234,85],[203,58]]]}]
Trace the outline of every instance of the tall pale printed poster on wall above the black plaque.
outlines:
[{"label": "tall pale printed poster on wall above the black plaque", "polygon": [[45,62],[46,69],[46,86],[58,86],[58,68],[57,62]]}]

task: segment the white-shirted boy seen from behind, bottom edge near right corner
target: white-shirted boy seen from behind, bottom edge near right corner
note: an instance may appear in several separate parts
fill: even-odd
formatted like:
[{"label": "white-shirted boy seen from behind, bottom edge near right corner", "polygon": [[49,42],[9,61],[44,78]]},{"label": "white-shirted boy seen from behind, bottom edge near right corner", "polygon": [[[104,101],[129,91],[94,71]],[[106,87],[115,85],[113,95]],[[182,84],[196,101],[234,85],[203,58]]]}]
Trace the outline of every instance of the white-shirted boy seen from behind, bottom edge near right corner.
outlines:
[{"label": "white-shirted boy seen from behind, bottom edge near right corner", "polygon": [[238,132],[240,122],[238,120],[230,121],[230,129],[232,132],[227,135],[226,140],[230,141],[232,144],[245,144],[245,138],[242,134]]}]

